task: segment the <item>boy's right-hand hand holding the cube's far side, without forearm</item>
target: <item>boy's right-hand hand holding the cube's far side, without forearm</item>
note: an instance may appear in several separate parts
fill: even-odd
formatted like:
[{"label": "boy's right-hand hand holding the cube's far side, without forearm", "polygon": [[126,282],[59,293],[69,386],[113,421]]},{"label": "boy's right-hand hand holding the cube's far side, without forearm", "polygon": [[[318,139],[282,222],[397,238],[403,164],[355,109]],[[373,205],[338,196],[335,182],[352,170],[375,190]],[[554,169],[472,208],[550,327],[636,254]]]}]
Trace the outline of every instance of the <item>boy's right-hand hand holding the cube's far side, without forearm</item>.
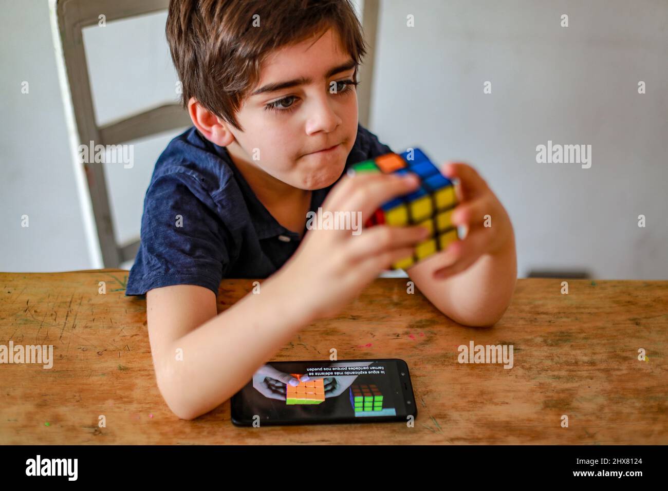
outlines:
[{"label": "boy's right-hand hand holding the cube's far side, without forearm", "polygon": [[[459,179],[455,192],[459,204],[452,212],[454,226],[466,226],[466,237],[450,244],[443,266],[434,278],[444,279],[468,269],[483,255],[494,255],[512,241],[512,224],[505,208],[474,168],[462,162],[446,162],[444,176]],[[486,215],[489,215],[486,217]],[[485,224],[488,226],[484,226]]]}]

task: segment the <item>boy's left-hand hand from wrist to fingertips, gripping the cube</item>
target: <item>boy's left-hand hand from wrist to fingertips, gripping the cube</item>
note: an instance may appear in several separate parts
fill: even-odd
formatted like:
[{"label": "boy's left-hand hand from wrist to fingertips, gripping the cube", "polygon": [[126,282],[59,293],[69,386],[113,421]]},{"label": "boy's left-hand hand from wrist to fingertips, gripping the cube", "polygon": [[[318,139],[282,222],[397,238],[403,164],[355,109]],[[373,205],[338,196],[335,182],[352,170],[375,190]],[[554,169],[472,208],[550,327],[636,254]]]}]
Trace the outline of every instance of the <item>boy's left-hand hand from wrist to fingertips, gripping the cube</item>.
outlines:
[{"label": "boy's left-hand hand from wrist to fingertips, gripping the cube", "polygon": [[[393,174],[345,175],[333,186],[323,212],[351,212],[359,235],[353,230],[312,229],[299,249],[277,273],[297,308],[306,309],[307,319],[337,315],[373,279],[393,263],[413,254],[415,244],[428,237],[420,226],[363,228],[363,223],[386,201],[419,187],[420,180]],[[335,214],[334,214],[335,216]]]}]

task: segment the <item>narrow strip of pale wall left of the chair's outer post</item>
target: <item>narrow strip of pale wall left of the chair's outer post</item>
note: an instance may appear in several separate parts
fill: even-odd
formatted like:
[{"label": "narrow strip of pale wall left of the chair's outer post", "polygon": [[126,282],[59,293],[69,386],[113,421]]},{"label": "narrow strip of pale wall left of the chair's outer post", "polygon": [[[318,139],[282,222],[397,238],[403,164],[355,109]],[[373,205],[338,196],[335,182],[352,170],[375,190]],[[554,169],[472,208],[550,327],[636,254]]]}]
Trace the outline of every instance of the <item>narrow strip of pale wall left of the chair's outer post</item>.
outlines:
[{"label": "narrow strip of pale wall left of the chair's outer post", "polygon": [[0,271],[86,269],[47,3],[0,11]]}]

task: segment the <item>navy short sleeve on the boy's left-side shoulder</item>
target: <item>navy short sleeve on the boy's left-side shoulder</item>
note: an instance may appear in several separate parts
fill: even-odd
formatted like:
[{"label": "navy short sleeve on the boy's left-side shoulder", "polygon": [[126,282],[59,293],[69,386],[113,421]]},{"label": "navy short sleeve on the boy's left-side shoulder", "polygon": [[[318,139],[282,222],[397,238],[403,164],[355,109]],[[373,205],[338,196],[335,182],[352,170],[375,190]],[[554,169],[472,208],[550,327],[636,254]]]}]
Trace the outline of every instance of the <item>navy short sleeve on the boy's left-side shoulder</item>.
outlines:
[{"label": "navy short sleeve on the boy's left-side shoulder", "polygon": [[228,233],[210,194],[184,172],[155,178],[144,198],[141,241],[126,295],[170,285],[218,293],[229,266]]}]

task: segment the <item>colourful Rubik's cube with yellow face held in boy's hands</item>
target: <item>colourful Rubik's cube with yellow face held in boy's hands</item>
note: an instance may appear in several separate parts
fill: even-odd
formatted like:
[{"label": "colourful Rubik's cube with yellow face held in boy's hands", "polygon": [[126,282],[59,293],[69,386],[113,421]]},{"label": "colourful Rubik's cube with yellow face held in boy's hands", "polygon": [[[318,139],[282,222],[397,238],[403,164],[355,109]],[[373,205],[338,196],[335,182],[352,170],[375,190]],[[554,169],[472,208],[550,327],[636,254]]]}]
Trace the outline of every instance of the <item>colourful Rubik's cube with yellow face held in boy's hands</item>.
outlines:
[{"label": "colourful Rubik's cube with yellow face held in boy's hands", "polygon": [[413,255],[394,263],[394,269],[407,269],[438,251],[444,251],[460,238],[451,221],[452,210],[457,205],[452,181],[441,174],[420,148],[377,156],[354,164],[351,170],[399,175],[411,172],[420,178],[417,190],[385,202],[364,223],[365,227],[420,225],[430,230],[430,236],[415,246]]}]

